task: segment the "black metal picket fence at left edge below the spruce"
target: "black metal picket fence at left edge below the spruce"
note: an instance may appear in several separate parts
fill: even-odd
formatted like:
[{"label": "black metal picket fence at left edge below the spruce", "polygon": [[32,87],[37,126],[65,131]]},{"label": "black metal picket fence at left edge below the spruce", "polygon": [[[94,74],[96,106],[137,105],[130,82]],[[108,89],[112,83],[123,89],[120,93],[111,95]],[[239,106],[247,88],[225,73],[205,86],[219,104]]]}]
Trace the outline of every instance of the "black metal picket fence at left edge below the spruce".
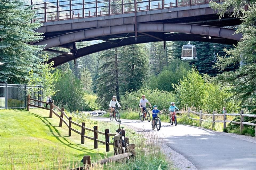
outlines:
[{"label": "black metal picket fence at left edge below the spruce", "polygon": [[[42,85],[0,84],[0,109],[25,109],[28,94],[33,99],[43,101]],[[31,102],[31,104],[41,106],[40,102]]]}]

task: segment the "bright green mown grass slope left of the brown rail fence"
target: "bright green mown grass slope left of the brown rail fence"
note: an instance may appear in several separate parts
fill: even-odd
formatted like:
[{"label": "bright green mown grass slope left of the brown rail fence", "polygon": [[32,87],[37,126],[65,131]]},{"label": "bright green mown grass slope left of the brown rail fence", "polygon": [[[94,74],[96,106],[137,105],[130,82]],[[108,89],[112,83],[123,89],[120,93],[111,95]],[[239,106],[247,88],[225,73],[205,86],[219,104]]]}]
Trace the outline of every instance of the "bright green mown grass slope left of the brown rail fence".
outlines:
[{"label": "bright green mown grass slope left of the brown rail fence", "polygon": [[[87,126],[93,124],[88,122]],[[94,160],[113,155],[113,151],[105,152],[105,145],[93,149],[89,139],[81,145],[80,135],[71,132],[68,137],[66,125],[58,125],[59,119],[55,115],[49,118],[49,111],[43,109],[1,110],[0,169],[66,169],[82,165],[84,155]],[[117,128],[111,127],[111,132]]]}]

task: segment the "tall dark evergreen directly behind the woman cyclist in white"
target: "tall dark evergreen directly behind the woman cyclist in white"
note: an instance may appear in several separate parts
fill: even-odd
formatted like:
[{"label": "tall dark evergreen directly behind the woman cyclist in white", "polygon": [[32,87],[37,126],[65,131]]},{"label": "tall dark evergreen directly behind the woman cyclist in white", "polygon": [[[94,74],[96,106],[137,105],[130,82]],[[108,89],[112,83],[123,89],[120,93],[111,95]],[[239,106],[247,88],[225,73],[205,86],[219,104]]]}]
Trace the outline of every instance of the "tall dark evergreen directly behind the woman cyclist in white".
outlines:
[{"label": "tall dark evergreen directly behind the woman cyclist in white", "polygon": [[102,108],[108,108],[108,104],[113,95],[119,95],[119,75],[118,60],[119,52],[117,48],[106,50],[101,53],[99,59],[101,66],[99,67],[97,103]]}]

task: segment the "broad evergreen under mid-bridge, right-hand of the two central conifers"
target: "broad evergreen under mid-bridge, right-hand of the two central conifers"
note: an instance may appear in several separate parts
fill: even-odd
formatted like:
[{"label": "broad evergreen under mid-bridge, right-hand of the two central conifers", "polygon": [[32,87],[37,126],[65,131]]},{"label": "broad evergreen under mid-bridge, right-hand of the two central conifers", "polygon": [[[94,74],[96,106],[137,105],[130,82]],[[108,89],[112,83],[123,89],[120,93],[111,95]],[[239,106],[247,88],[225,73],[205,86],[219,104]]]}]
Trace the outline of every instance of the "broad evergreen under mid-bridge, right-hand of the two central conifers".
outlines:
[{"label": "broad evergreen under mid-bridge, right-hand of the two central conifers", "polygon": [[149,61],[144,46],[129,45],[121,48],[122,94],[139,89],[146,78]]}]

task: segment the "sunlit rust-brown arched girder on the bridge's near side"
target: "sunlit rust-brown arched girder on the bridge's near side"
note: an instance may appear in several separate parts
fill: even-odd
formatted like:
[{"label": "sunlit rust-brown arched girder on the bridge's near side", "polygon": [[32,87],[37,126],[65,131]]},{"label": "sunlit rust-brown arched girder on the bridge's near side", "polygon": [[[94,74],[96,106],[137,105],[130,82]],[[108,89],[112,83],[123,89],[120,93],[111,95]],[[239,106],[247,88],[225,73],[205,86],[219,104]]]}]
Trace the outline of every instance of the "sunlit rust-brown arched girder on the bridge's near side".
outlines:
[{"label": "sunlit rust-brown arched girder on the bridge's near side", "polygon": [[[234,29],[211,27],[206,25],[181,24],[181,23],[138,23],[138,32],[178,32],[190,33],[206,36],[214,36],[239,41],[242,34],[234,34]],[[134,24],[114,25],[110,27],[100,27],[86,29],[82,31],[67,33],[49,39],[44,39],[34,45],[46,45],[45,49],[60,46],[71,42],[78,42],[94,37],[104,37],[118,35],[122,33],[134,33]],[[234,34],[234,35],[233,35]]]}]

